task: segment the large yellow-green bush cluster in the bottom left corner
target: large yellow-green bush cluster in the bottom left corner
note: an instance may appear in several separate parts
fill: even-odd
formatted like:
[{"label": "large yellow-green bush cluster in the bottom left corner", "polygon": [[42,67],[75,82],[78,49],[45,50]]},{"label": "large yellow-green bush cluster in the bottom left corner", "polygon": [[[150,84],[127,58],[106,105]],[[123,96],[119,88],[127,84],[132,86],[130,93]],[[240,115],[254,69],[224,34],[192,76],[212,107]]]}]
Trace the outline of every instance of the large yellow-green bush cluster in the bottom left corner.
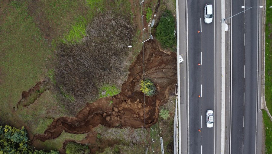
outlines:
[{"label": "large yellow-green bush cluster in the bottom left corner", "polygon": [[58,151],[51,150],[44,152],[43,150],[33,150],[29,146],[30,140],[27,136],[28,132],[24,128],[17,129],[6,125],[4,128],[0,126],[0,153],[13,154],[59,154]]}]

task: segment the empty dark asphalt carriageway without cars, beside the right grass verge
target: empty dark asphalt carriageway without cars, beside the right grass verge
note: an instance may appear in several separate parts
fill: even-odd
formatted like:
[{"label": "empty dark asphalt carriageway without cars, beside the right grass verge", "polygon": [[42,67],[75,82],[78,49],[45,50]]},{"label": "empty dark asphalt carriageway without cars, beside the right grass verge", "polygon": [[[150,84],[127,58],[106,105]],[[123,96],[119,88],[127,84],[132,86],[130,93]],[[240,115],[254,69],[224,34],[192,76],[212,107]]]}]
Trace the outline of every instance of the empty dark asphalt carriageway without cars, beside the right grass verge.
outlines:
[{"label": "empty dark asphalt carriageway without cars, beside the right grass verge", "polygon": [[[232,0],[232,15],[241,6],[258,6],[257,0]],[[231,22],[231,134],[230,153],[256,151],[258,10],[251,8]]]}]

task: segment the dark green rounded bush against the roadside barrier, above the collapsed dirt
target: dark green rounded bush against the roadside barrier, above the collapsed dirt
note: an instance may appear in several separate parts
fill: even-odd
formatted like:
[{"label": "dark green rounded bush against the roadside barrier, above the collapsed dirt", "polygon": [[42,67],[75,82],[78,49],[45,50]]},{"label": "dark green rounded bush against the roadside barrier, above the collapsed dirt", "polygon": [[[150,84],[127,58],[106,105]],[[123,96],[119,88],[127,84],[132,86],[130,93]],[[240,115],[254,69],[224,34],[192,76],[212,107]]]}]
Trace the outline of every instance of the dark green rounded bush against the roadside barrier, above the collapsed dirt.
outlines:
[{"label": "dark green rounded bush against the roadside barrier, above the collapsed dirt", "polygon": [[170,10],[165,10],[156,29],[156,38],[163,48],[171,48],[176,45],[174,37],[175,18]]}]

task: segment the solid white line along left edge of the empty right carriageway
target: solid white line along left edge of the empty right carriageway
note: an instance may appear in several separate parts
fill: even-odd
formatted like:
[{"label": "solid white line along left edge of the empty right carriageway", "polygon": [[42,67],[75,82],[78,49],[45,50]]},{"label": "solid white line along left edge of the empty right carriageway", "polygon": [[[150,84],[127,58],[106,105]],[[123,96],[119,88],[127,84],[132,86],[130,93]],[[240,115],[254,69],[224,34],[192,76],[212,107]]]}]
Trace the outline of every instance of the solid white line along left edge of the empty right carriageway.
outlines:
[{"label": "solid white line along left edge of the empty right carriageway", "polygon": [[[230,0],[230,17],[232,16],[232,0]],[[230,30],[230,37],[231,37],[231,72],[232,72],[232,18],[230,18],[231,21],[231,30]],[[232,84],[232,74],[231,74],[231,84]],[[232,85],[231,85],[231,99],[230,99],[230,138],[229,138],[229,154],[232,153]]]}]

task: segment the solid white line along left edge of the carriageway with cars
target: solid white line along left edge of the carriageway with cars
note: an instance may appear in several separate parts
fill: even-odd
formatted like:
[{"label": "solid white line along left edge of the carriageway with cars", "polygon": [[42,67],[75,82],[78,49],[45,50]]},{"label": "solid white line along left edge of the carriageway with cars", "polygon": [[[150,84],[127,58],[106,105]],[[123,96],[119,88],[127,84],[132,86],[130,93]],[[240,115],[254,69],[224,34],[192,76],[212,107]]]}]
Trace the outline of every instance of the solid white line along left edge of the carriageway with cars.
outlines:
[{"label": "solid white line along left edge of the carriageway with cars", "polygon": [[[176,0],[178,1],[178,0]],[[190,153],[190,129],[189,129],[189,50],[188,50],[188,1],[186,0],[186,44],[187,44],[187,99],[188,99],[188,154]]]}]

